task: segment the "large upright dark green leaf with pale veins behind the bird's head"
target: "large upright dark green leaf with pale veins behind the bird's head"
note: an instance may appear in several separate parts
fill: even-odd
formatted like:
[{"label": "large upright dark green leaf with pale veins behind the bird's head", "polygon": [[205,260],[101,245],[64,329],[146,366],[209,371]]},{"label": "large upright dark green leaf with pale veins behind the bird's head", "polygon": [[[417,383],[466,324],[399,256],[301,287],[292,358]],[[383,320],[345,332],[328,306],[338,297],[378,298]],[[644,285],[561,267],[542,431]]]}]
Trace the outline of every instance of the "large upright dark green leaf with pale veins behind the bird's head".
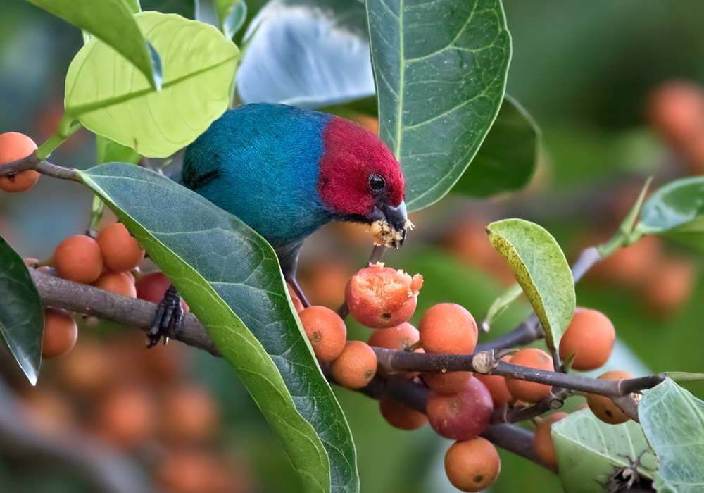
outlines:
[{"label": "large upright dark green leaf with pale veins behind the bird's head", "polygon": [[409,211],[441,199],[503,101],[511,40],[499,0],[367,0],[379,135],[403,166]]}]

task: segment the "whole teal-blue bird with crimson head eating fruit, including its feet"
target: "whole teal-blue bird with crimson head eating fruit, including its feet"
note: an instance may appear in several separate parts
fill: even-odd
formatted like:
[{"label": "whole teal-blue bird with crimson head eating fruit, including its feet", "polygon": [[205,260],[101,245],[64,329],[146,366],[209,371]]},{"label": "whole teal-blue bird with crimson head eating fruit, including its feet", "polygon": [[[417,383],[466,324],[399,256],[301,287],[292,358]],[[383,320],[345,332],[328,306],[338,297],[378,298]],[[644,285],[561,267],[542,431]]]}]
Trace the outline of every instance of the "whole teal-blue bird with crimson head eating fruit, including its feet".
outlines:
[{"label": "whole teal-blue bird with crimson head eating fruit, including its feet", "polygon": [[[410,227],[400,163],[379,137],[329,113],[253,103],[225,111],[183,158],[180,182],[234,214],[275,250],[284,280],[296,280],[298,252],[331,221],[365,223],[398,248]],[[150,345],[179,320],[171,287],[160,304]]]}]

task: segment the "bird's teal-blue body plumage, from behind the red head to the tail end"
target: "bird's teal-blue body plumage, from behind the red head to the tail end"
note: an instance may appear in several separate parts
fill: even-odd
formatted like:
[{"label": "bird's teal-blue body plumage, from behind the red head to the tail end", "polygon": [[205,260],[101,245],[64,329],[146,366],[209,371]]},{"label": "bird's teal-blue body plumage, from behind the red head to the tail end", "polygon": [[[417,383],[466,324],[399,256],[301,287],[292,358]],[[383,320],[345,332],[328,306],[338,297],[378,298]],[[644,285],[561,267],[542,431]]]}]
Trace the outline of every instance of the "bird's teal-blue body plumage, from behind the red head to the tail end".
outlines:
[{"label": "bird's teal-blue body plumage, from behind the red head to the tail end", "polygon": [[331,220],[316,184],[330,115],[281,104],[227,111],[184,156],[184,185],[239,217],[275,248]]}]

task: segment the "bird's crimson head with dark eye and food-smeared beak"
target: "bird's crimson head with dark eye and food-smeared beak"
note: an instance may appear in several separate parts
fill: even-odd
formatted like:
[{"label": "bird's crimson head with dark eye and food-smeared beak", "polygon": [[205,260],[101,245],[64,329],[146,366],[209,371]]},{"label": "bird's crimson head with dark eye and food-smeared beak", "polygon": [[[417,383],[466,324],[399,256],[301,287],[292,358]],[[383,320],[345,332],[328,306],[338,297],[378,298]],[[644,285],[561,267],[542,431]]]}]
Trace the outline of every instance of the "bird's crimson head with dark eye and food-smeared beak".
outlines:
[{"label": "bird's crimson head with dark eye and food-smeared beak", "polygon": [[379,137],[338,116],[322,132],[318,193],[342,220],[377,224],[396,238],[406,237],[406,184],[401,166]]}]

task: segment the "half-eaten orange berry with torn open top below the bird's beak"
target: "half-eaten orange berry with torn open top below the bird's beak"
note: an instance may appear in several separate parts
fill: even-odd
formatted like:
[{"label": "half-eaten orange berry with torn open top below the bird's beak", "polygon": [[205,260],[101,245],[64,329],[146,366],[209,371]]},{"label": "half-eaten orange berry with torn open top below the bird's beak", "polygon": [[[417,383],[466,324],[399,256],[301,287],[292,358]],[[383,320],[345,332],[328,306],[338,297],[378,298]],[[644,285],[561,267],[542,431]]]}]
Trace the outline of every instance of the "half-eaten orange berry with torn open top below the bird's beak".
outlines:
[{"label": "half-eaten orange berry with torn open top below the bird's beak", "polygon": [[383,263],[360,269],[347,283],[351,315],[365,327],[386,329],[406,322],[415,312],[423,278],[384,267]]}]

